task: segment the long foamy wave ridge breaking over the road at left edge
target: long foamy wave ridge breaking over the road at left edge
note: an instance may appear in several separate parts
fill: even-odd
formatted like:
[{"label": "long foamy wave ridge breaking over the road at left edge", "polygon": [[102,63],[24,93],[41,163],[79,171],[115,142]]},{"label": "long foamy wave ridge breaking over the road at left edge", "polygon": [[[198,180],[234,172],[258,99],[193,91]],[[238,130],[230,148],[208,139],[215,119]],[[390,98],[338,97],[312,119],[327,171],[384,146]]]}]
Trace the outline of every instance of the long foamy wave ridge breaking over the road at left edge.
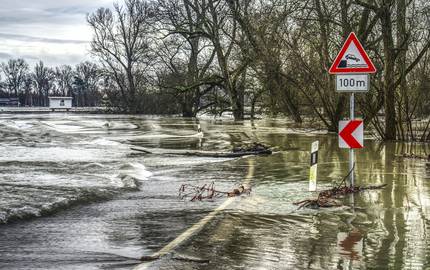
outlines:
[{"label": "long foamy wave ridge breaking over the road at left edge", "polygon": [[[103,171],[104,165],[90,163],[83,170]],[[23,181],[20,173],[15,179],[0,184],[0,223],[12,220],[39,217],[67,209],[73,205],[110,199],[120,193],[138,191],[142,181],[152,175],[144,165],[125,164],[116,176],[108,174],[52,175],[32,172],[36,177]],[[79,181],[77,181],[78,179]],[[20,181],[21,180],[21,181]],[[19,183],[17,183],[19,182]]]}]

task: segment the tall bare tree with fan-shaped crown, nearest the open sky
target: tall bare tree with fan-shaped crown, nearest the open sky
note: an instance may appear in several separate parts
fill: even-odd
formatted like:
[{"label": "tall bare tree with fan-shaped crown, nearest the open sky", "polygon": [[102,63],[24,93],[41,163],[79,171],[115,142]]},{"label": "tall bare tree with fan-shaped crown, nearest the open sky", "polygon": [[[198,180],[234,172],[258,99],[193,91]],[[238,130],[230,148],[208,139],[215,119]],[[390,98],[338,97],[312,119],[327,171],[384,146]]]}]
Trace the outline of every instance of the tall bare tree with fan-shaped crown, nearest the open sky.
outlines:
[{"label": "tall bare tree with fan-shaped crown, nearest the open sky", "polygon": [[125,108],[139,112],[149,57],[148,35],[153,10],[146,1],[126,0],[114,9],[99,8],[87,17],[93,29],[92,52],[111,73]]}]

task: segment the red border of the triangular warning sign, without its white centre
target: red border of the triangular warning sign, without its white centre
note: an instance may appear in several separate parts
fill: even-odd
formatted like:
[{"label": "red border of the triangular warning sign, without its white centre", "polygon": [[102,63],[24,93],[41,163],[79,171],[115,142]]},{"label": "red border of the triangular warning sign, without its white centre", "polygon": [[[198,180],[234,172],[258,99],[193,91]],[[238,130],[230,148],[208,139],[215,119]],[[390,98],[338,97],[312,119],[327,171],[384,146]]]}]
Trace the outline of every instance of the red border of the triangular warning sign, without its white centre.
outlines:
[{"label": "red border of the triangular warning sign, without its white centre", "polygon": [[[360,52],[361,56],[364,59],[364,62],[366,62],[368,67],[365,68],[338,68],[338,65],[340,61],[342,60],[343,55],[345,54],[346,50],[348,49],[349,45],[354,42],[355,46],[357,47],[358,51]],[[342,46],[342,49],[337,54],[333,64],[331,65],[329,71],[330,74],[340,74],[340,73],[375,73],[376,68],[375,65],[372,63],[372,60],[370,60],[369,56],[367,55],[366,51],[363,48],[363,45],[361,45],[360,41],[358,40],[357,36],[354,32],[351,32],[346,39],[345,43]]]}]

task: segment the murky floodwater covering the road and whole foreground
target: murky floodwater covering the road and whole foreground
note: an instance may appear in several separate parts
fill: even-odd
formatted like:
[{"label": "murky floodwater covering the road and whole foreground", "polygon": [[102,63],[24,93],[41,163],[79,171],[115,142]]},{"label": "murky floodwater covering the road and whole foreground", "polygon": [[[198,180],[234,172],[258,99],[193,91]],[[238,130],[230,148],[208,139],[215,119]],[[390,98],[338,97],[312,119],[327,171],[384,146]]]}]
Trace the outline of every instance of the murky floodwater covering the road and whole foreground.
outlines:
[{"label": "murky floodwater covering the road and whole foreground", "polygon": [[[198,123],[203,138],[196,134]],[[368,139],[357,151],[356,183],[386,188],[346,197],[338,208],[297,210],[293,202],[315,197],[307,192],[311,143],[320,141],[319,189],[347,174],[348,152],[338,148],[335,135],[290,125],[274,119],[0,115],[0,268],[430,267],[430,164],[396,157],[424,155],[428,146]],[[219,159],[131,149],[229,151],[253,141],[276,152]],[[219,190],[245,182],[252,193],[205,202],[177,196],[183,183],[212,181]],[[174,248],[163,249],[172,241]],[[157,260],[137,260],[162,249]]]}]

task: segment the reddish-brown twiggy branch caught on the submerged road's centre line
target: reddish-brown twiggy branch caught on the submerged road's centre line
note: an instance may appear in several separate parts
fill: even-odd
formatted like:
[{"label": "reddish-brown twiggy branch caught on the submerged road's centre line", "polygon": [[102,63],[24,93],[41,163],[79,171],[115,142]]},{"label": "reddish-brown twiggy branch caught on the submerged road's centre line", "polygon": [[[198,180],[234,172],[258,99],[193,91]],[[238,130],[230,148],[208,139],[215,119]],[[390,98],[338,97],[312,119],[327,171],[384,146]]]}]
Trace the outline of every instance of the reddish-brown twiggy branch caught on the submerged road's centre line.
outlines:
[{"label": "reddish-brown twiggy branch caught on the submerged road's centre line", "polygon": [[211,200],[220,197],[235,197],[242,194],[249,195],[251,193],[251,188],[246,188],[240,185],[238,188],[232,191],[219,191],[215,189],[215,183],[212,182],[209,185],[204,184],[203,186],[196,186],[190,184],[182,184],[179,188],[179,198],[181,200],[186,198],[191,198],[190,201],[202,201]]}]

